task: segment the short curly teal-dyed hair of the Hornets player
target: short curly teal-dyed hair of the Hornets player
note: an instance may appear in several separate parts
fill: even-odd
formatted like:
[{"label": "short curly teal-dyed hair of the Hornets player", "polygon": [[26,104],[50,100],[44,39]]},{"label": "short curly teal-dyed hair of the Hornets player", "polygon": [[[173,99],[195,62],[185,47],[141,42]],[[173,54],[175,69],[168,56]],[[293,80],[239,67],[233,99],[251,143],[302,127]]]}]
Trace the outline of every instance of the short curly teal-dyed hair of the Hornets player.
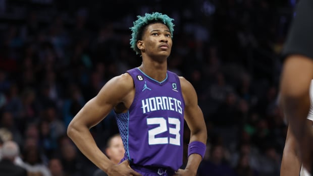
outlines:
[{"label": "short curly teal-dyed hair of the Hornets player", "polygon": [[145,16],[137,16],[137,20],[134,21],[134,26],[129,28],[132,31],[132,38],[130,39],[130,47],[133,48],[133,50],[136,52],[136,54],[141,53],[140,49],[137,47],[137,41],[141,40],[142,37],[142,32],[143,29],[152,23],[155,22],[161,22],[164,23],[170,30],[171,32],[171,37],[173,38],[173,31],[174,31],[174,24],[172,18],[169,16],[159,13],[159,12],[154,12],[152,14],[146,13]]}]

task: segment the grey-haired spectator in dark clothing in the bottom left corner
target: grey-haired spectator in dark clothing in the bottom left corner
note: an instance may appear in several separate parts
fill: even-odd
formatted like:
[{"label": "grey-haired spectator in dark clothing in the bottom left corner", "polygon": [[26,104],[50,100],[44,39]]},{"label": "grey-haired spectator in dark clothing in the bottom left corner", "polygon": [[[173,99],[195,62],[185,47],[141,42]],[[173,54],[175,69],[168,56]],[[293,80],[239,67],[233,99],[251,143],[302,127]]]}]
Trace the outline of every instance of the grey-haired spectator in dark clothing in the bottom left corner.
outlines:
[{"label": "grey-haired spectator in dark clothing in the bottom left corner", "polygon": [[14,163],[19,156],[19,146],[14,141],[6,141],[2,147],[2,159],[0,161],[1,176],[27,176],[27,170]]}]

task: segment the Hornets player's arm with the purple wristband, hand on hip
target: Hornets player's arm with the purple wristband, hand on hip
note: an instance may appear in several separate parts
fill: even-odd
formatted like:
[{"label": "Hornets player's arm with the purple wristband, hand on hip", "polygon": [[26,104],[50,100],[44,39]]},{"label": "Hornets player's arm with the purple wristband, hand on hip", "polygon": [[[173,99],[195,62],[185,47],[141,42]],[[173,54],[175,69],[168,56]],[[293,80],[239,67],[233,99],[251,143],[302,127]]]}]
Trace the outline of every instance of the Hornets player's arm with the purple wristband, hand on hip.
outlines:
[{"label": "Hornets player's arm with the purple wristband, hand on hip", "polygon": [[[194,90],[191,83],[183,77],[180,77],[180,84],[181,84],[181,89],[182,89],[183,97],[185,101],[184,116],[185,116],[187,125],[190,129],[189,147],[190,147],[190,144],[192,143],[195,145],[200,144],[198,145],[198,147],[202,149],[204,147],[204,152],[205,152],[207,131],[206,131],[206,125],[205,125],[204,118],[203,118],[203,113],[200,107],[198,106],[198,98],[197,98],[196,91]],[[197,147],[197,146],[194,146],[194,147]],[[188,157],[187,165],[186,165],[184,172],[187,172],[190,175],[196,175],[196,172],[197,172],[197,169],[201,160],[202,160],[202,156],[200,154],[197,154],[197,153],[190,154]],[[184,175],[184,173],[182,173],[182,175]]]}]

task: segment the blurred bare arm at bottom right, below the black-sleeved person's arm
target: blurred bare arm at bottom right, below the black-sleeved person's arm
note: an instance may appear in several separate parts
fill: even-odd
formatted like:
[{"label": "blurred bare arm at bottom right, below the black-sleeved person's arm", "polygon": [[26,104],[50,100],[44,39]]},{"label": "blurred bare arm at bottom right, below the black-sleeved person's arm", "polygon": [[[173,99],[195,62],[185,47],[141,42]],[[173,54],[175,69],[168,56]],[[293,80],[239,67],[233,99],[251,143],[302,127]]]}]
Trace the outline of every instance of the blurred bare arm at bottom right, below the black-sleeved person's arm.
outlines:
[{"label": "blurred bare arm at bottom right, below the black-sleeved person's arm", "polygon": [[300,173],[301,160],[297,151],[295,138],[290,131],[290,127],[288,127],[280,168],[281,176],[294,176]]}]

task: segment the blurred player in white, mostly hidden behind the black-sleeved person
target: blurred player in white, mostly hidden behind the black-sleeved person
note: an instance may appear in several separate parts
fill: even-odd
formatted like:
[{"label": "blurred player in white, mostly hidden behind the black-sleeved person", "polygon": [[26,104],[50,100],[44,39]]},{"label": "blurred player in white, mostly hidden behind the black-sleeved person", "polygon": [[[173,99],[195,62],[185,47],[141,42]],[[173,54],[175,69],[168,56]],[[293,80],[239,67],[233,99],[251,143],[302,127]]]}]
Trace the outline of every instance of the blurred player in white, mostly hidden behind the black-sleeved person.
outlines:
[{"label": "blurred player in white, mostly hidden behind the black-sleeved person", "polygon": [[[310,84],[310,110],[307,114],[307,123],[311,126],[313,125],[313,80],[311,80]],[[296,146],[296,140],[294,135],[290,132],[290,128],[288,128],[284,153],[281,163],[281,176],[293,176],[299,175],[300,176],[310,176],[309,172],[301,165],[301,160],[299,158],[299,153]]]}]

